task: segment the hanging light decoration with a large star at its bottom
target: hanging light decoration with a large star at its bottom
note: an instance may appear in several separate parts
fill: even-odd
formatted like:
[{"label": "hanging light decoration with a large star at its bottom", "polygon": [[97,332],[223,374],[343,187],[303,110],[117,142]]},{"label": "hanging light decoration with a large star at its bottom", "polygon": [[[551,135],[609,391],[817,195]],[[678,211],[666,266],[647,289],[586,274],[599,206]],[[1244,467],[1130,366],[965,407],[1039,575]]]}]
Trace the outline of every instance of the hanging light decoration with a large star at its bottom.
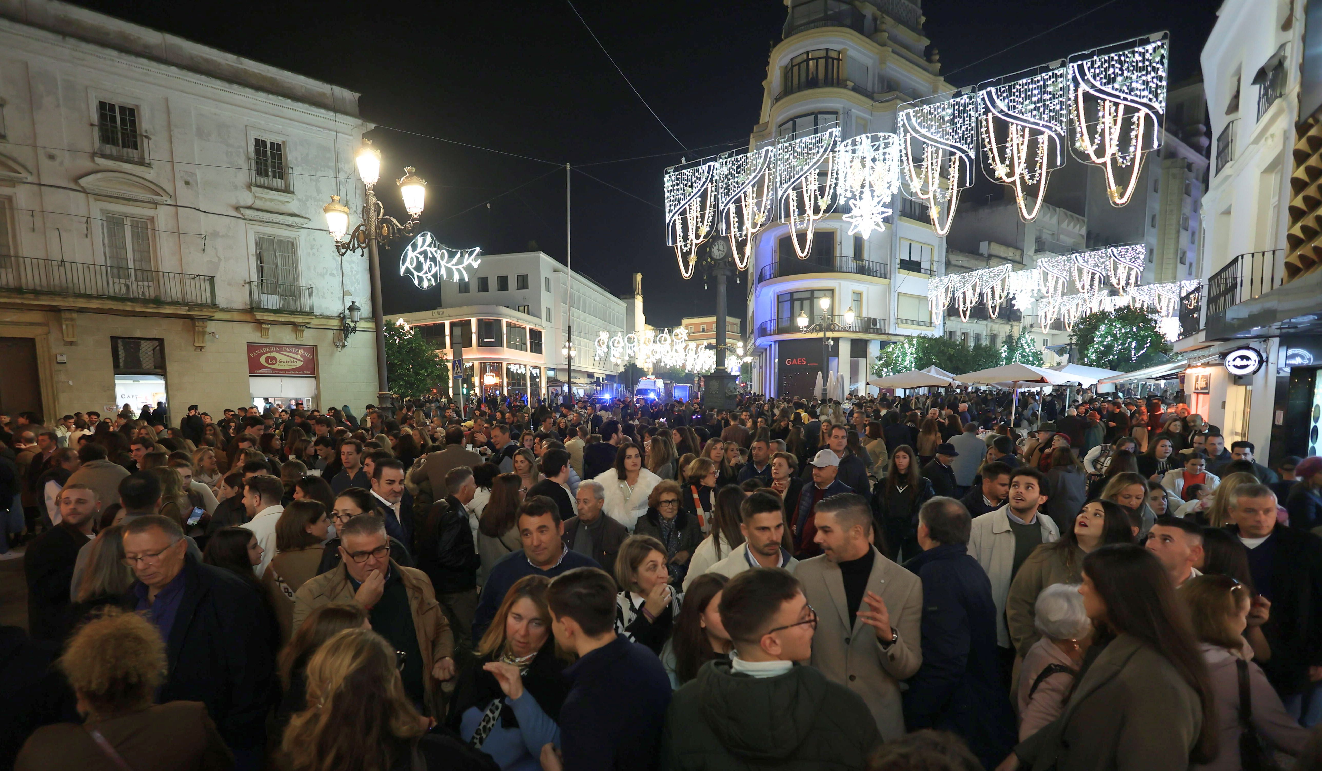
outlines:
[{"label": "hanging light decoration with a large star at its bottom", "polygon": [[837,194],[850,212],[849,234],[869,238],[886,230],[891,198],[900,189],[900,139],[894,134],[861,134],[836,151]]}]

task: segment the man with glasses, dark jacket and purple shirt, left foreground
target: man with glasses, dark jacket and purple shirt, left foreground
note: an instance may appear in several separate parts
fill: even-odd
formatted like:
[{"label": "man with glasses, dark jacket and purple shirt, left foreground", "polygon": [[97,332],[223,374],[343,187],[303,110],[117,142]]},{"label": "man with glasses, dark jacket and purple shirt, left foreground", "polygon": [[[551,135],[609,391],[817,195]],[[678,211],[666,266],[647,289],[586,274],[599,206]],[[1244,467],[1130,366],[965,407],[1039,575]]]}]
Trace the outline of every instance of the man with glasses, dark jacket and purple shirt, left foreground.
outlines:
[{"label": "man with glasses, dark jacket and purple shirt, left foreground", "polygon": [[189,554],[184,532],[169,517],[127,520],[123,540],[123,562],[137,581],[120,604],[145,612],[165,640],[167,676],[157,701],[201,701],[234,752],[234,767],[260,767],[275,678],[275,629],[262,600],[233,573]]}]

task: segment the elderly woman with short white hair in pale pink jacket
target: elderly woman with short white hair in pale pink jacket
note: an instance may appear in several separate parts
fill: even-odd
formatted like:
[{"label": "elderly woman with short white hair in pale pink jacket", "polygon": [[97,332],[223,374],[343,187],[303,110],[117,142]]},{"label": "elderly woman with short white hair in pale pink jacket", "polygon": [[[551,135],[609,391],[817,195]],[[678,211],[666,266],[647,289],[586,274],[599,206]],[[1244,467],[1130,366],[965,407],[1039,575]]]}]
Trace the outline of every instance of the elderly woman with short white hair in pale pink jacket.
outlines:
[{"label": "elderly woman with short white hair in pale pink jacket", "polygon": [[1029,648],[1019,668],[1021,742],[1060,717],[1092,635],[1077,583],[1043,588],[1032,611],[1032,626],[1042,639]]}]

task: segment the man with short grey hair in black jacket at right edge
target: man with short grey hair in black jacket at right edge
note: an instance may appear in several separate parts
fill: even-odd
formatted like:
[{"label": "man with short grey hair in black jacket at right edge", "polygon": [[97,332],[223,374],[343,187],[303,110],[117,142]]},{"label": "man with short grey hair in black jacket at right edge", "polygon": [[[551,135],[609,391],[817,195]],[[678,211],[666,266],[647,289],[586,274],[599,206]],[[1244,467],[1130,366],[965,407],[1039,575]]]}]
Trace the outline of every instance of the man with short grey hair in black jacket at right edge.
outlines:
[{"label": "man with short grey hair in black jacket at right edge", "polygon": [[1278,525],[1276,495],[1265,484],[1235,488],[1229,516],[1248,550],[1253,587],[1272,602],[1263,624],[1272,657],[1263,670],[1298,718],[1303,696],[1322,680],[1322,538]]}]

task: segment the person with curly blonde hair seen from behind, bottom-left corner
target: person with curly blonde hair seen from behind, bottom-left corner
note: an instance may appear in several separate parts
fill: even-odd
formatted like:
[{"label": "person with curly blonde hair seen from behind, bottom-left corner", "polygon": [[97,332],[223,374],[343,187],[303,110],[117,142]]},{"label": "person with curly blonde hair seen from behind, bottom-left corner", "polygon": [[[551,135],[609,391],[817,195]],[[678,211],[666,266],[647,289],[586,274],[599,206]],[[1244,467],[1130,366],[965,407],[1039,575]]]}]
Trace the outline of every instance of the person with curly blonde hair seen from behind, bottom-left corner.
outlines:
[{"label": "person with curly blonde hair seen from behind, bottom-left corner", "polygon": [[37,729],[17,771],[234,767],[202,702],[152,704],[165,680],[165,641],[145,618],[107,608],[74,633],[58,667],[86,722]]}]

